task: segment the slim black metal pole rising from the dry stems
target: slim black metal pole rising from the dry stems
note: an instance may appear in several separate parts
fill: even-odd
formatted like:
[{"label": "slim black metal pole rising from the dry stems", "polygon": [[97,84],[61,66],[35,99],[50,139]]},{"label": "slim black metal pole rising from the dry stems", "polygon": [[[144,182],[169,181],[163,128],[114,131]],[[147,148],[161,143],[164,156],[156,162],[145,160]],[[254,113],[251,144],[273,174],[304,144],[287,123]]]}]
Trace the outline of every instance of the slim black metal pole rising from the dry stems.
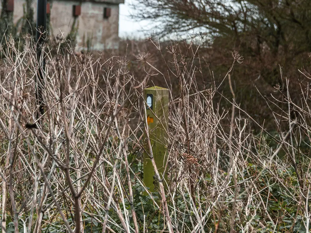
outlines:
[{"label": "slim black metal pole rising from the dry stems", "polygon": [[[39,104],[39,112],[44,113],[43,89],[44,89],[44,67],[45,59],[42,53],[42,45],[46,37],[46,2],[47,0],[38,0],[37,4],[37,59],[39,62],[37,82],[36,82],[36,99]],[[39,114],[38,114],[39,115]],[[39,116],[38,116],[39,117]]]}]

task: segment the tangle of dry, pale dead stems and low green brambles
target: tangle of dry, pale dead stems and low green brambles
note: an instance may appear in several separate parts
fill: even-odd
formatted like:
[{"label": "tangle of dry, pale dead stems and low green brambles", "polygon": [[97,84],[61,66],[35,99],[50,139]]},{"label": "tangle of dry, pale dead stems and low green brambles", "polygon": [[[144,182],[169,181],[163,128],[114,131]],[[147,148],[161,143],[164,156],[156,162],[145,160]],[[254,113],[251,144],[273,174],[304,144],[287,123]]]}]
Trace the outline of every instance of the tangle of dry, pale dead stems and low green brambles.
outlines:
[{"label": "tangle of dry, pale dead stems and low green brambles", "polygon": [[[137,54],[143,81],[128,71],[126,58],[64,54],[46,44],[39,83],[35,45],[18,51],[10,40],[1,48],[4,232],[309,231],[311,76],[301,71],[300,105],[283,91],[289,80],[282,77],[281,99],[267,101],[277,109],[271,112],[276,131],[258,125],[262,130],[254,134],[253,118],[235,103],[231,85],[230,71],[242,56],[232,52],[232,66],[221,77],[229,79],[232,98],[230,109],[220,108],[213,98],[222,82],[204,91],[197,86],[200,43],[194,39],[186,54],[174,43],[161,51],[172,54],[163,61],[166,73],[148,62],[148,53]],[[179,91],[169,87],[168,179],[158,179],[160,189],[144,195],[143,89],[154,75],[162,75],[162,87],[177,78]],[[44,89],[43,115],[36,86]],[[27,128],[29,122],[38,127]]]}]

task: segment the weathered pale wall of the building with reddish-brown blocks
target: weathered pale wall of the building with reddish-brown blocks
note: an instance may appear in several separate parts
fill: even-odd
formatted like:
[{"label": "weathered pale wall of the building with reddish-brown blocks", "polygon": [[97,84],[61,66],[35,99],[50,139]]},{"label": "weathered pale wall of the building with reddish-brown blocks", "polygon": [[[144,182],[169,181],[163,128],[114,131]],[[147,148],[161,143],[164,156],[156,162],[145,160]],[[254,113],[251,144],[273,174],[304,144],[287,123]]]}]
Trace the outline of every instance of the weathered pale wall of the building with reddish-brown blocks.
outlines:
[{"label": "weathered pale wall of the building with reddish-brown blocks", "polygon": [[[124,0],[98,0],[95,1],[70,1],[54,0],[50,7],[51,30],[50,35],[56,36],[60,32],[66,37],[72,30],[75,21],[73,6],[81,4],[81,15],[77,16],[75,26],[77,27],[78,50],[103,50],[118,48],[118,21],[119,3]],[[23,5],[25,0],[14,0],[14,23],[23,16]],[[104,8],[111,8],[111,16],[104,18]],[[34,21],[36,21],[37,1],[33,1]],[[0,9],[1,11],[1,9]]]}]

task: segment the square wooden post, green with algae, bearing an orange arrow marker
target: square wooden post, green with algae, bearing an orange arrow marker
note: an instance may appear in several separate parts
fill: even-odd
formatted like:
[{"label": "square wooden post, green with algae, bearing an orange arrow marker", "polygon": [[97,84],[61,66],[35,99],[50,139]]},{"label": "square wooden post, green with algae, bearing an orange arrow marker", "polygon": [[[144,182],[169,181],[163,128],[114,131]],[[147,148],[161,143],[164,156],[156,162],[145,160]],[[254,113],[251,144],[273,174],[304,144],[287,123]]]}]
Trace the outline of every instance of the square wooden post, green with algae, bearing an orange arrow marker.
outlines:
[{"label": "square wooden post, green with algae, bearing an orange arrow marker", "polygon": [[[166,131],[168,129],[169,117],[169,89],[158,86],[146,88],[144,89],[144,98],[147,102],[146,124],[148,126],[153,157],[160,177],[164,176],[164,179],[167,180],[167,174],[163,173],[168,155],[167,140],[165,138],[167,138]],[[146,151],[149,151],[148,147],[146,147]],[[163,183],[165,184],[165,182]],[[150,188],[150,192],[157,190],[158,180],[147,153],[144,153],[144,184]]]}]

